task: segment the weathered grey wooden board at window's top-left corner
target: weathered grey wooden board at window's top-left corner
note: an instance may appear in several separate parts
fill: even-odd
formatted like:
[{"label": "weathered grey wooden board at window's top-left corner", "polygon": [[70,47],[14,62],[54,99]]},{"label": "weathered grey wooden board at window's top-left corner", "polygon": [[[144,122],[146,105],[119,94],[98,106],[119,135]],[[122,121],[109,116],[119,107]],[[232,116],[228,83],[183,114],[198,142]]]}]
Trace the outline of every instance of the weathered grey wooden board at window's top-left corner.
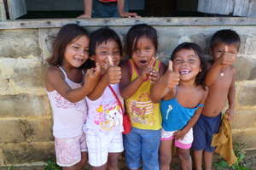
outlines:
[{"label": "weathered grey wooden board at window's top-left corner", "polygon": [[25,0],[8,0],[9,18],[15,20],[20,16],[26,14]]}]

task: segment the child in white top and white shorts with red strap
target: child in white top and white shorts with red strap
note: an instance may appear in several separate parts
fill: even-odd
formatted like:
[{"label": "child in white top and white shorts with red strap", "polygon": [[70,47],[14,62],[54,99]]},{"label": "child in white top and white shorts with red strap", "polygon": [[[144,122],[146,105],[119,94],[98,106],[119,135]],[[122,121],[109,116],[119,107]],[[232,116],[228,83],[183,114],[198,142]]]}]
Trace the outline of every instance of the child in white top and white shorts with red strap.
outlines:
[{"label": "child in white top and white shorts with red strap", "polygon": [[122,44],[107,27],[90,34],[90,59],[101,67],[101,79],[86,98],[89,111],[84,127],[89,163],[94,170],[119,169],[123,148],[123,99],[119,95]]}]

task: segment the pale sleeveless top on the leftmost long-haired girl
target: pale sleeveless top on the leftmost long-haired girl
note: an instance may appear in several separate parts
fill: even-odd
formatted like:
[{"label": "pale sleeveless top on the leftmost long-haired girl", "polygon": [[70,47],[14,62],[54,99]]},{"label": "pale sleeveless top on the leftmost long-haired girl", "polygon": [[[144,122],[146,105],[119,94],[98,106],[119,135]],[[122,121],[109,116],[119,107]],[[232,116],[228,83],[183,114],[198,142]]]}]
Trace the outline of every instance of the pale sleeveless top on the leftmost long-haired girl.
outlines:
[{"label": "pale sleeveless top on the leftmost long-haired girl", "polygon": [[[81,83],[68,79],[66,72],[59,67],[65,76],[65,82],[72,89],[80,88]],[[85,99],[72,103],[64,99],[56,90],[47,92],[53,112],[53,135],[55,138],[73,138],[83,133],[87,114]]]}]

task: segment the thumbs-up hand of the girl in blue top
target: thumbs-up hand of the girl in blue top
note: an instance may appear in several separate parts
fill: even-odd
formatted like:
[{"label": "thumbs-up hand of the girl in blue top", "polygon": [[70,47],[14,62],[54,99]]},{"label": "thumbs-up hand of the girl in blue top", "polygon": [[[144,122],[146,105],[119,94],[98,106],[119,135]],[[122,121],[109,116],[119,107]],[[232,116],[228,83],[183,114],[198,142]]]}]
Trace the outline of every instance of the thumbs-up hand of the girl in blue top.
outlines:
[{"label": "thumbs-up hand of the girl in blue top", "polygon": [[168,69],[164,75],[167,88],[175,88],[179,82],[179,74],[172,70],[172,60],[169,60]]}]

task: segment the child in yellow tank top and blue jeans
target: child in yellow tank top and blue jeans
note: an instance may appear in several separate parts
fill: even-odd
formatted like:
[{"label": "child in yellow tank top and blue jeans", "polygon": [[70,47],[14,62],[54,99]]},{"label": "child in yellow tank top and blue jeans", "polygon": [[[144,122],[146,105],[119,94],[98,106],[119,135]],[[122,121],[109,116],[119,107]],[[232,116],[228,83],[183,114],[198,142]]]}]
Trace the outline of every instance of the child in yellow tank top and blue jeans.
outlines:
[{"label": "child in yellow tank top and blue jeans", "polygon": [[[131,133],[124,136],[125,161],[130,169],[159,169],[160,105],[150,99],[151,84],[163,74],[164,67],[154,59],[157,33],[145,24],[132,26],[126,36],[127,54],[122,65],[121,96],[131,118]],[[160,71],[160,73],[159,73]]]}]

